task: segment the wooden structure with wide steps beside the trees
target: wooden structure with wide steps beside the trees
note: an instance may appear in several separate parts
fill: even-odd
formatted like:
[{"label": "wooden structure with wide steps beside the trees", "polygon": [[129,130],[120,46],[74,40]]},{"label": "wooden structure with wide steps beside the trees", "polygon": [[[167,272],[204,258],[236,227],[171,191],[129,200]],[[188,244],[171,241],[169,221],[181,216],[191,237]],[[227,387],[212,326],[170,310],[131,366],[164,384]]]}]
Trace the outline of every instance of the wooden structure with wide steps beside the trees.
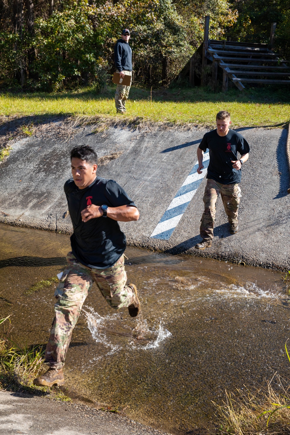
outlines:
[{"label": "wooden structure with wide steps beside the trees", "polygon": [[[245,84],[290,84],[290,67],[280,59],[273,47],[276,23],[272,23],[270,44],[217,41],[208,39],[210,17],[205,17],[203,43],[193,54],[179,74],[179,79],[189,75],[190,84],[207,81],[208,64],[212,64],[211,83],[217,86],[218,68],[223,70],[223,92],[227,91],[229,79],[239,90]],[[200,59],[200,60],[199,60]],[[200,79],[197,63],[201,63]],[[197,79],[197,80],[196,80]]]}]

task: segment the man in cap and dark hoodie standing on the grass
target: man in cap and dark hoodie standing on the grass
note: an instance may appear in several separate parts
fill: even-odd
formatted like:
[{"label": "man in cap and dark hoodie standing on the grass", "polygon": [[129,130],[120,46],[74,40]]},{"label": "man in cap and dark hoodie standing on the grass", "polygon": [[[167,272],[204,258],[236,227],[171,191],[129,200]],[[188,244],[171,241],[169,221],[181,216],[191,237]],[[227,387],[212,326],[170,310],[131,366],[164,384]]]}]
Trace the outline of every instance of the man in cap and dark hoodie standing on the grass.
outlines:
[{"label": "man in cap and dark hoodie standing on the grass", "polygon": [[[121,39],[117,40],[114,48],[114,59],[117,72],[120,74],[120,78],[123,78],[125,75],[131,76],[132,83],[132,50],[129,45],[129,39],[130,31],[128,29],[122,30]],[[117,113],[126,112],[125,105],[129,95],[131,83],[129,86],[117,84],[117,89],[115,92],[115,106]]]}]

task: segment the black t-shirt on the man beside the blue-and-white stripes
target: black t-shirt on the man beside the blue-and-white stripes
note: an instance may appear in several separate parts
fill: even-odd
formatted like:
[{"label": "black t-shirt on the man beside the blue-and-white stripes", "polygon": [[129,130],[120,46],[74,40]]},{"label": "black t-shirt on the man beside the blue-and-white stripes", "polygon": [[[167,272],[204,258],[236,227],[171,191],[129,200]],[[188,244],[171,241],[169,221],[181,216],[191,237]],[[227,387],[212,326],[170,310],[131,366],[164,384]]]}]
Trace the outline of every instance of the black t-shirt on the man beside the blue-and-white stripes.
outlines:
[{"label": "black t-shirt on the man beside the blue-and-white stripes", "polygon": [[237,131],[230,130],[227,136],[219,136],[217,130],[211,130],[203,136],[200,149],[210,150],[210,164],[207,178],[220,184],[240,183],[242,171],[234,169],[231,160],[238,160],[238,152],[243,155],[250,151],[246,139]]}]

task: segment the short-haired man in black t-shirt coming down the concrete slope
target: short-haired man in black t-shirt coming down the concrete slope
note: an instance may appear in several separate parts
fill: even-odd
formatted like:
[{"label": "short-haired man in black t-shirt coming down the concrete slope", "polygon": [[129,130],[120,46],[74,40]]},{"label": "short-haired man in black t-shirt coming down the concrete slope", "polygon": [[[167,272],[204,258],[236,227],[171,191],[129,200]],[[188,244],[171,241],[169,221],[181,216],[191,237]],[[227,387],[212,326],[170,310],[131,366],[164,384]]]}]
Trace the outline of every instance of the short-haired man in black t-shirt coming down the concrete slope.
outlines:
[{"label": "short-haired man in black t-shirt coming down the concrete slope", "polygon": [[[207,185],[203,196],[204,212],[200,224],[200,235],[203,240],[195,245],[197,249],[211,247],[219,194],[227,213],[230,234],[235,234],[239,230],[241,166],[248,160],[250,147],[240,133],[230,130],[230,124],[229,112],[221,110],[217,114],[217,128],[206,133],[197,148],[198,174],[202,173],[203,154],[207,148],[210,150]],[[241,154],[240,159],[238,159],[238,152]]]}]

